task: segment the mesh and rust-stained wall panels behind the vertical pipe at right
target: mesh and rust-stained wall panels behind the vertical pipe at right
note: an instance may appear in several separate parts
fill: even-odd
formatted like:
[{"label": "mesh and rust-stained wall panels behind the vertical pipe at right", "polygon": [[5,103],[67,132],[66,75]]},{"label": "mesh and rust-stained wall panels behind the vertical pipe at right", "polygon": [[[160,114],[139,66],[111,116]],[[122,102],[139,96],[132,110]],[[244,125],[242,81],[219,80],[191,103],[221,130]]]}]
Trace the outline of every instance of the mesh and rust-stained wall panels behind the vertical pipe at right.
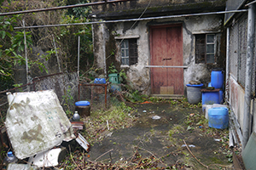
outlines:
[{"label": "mesh and rust-stained wall panels behind the vertical pipe at right", "polygon": [[[256,21],[255,21],[256,25]],[[246,59],[247,59],[247,13],[242,13],[239,17],[234,17],[228,25],[230,27],[229,43],[229,79],[230,79],[230,96],[229,105],[236,119],[243,127],[244,116],[244,95],[245,95],[245,77],[246,77]],[[254,40],[256,44],[256,40]],[[251,101],[251,118],[252,130],[256,133],[256,103],[255,103],[255,54],[254,47],[253,67],[252,67],[252,101]],[[251,127],[250,129],[251,130]]]}]

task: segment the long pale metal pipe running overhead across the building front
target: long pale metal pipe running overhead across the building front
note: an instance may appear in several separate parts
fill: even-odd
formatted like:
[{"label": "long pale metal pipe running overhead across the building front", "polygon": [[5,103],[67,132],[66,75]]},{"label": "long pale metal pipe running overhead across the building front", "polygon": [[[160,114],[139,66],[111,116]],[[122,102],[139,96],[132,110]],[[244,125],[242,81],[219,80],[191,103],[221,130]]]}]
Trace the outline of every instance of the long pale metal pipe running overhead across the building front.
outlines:
[{"label": "long pale metal pipe running overhead across the building front", "polygon": [[[149,18],[140,18],[140,19],[128,19],[128,20],[104,20],[104,21],[73,23],[73,24],[26,26],[25,28],[44,28],[44,27],[55,27],[55,26],[82,26],[82,25],[90,25],[90,24],[114,23],[114,22],[137,21],[137,20],[171,19],[171,18],[180,18],[180,17],[188,17],[188,16],[200,16],[200,15],[210,15],[210,14],[228,14],[228,13],[241,13],[241,12],[247,12],[247,9],[219,11],[219,12],[212,12],[212,13],[199,13],[199,14],[177,14],[177,15],[169,15],[169,16],[149,17]],[[15,27],[14,29],[22,29],[22,28],[23,27]]]}]

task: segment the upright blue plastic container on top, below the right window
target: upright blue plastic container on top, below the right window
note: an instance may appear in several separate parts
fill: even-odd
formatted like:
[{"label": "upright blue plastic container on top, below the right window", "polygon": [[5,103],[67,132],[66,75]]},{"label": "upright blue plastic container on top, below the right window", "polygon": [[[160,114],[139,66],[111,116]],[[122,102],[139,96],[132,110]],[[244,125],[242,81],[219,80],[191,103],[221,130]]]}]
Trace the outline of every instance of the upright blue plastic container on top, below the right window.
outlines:
[{"label": "upright blue plastic container on top, below the right window", "polygon": [[211,73],[211,85],[214,88],[222,88],[224,82],[224,72],[223,69],[212,69]]}]

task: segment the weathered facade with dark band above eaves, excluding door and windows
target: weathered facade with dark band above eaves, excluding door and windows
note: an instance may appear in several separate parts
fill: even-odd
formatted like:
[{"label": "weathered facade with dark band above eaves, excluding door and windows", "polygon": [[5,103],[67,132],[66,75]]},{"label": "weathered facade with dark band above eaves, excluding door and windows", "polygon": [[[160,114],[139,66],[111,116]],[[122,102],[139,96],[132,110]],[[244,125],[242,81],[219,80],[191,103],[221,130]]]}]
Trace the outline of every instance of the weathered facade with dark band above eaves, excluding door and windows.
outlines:
[{"label": "weathered facade with dark band above eaves, excluding door and windows", "polygon": [[[110,15],[113,19],[126,19],[133,14],[136,16],[141,12],[139,9],[146,7],[149,1],[134,1],[118,3],[115,6],[107,5],[105,8],[96,8],[95,15],[96,20],[109,20]],[[159,14],[190,14],[193,12],[203,12],[212,10],[216,7],[212,2],[201,1],[152,1],[149,5],[145,16],[159,16]],[[215,2],[215,3],[214,3]],[[219,4],[219,2],[222,2]],[[156,3],[156,4],[154,4]],[[196,6],[197,4],[197,6]],[[202,5],[206,5],[205,8],[200,8]],[[209,4],[212,4],[212,6]],[[216,3],[217,4],[217,3]],[[151,6],[156,6],[152,7]],[[127,15],[127,8],[135,7],[131,9],[131,15]],[[178,7],[178,8],[174,8]],[[212,7],[212,8],[211,8]],[[218,1],[218,7],[214,10],[223,8],[223,1]],[[109,11],[106,9],[108,8]],[[115,8],[115,9],[114,9]],[[121,8],[120,10],[118,10]],[[138,8],[136,10],[136,8]],[[188,10],[181,11],[180,9],[187,8]],[[145,8],[143,8],[145,9]],[[224,9],[224,8],[223,8]],[[118,14],[114,11],[119,11]],[[155,12],[153,12],[155,10]],[[104,12],[106,11],[106,12]],[[162,11],[162,13],[161,13]],[[126,13],[126,15],[125,15]],[[141,13],[140,13],[141,14]],[[94,14],[92,14],[94,15]],[[143,15],[144,16],[144,15]],[[100,17],[100,18],[98,18]],[[114,63],[119,71],[125,69],[125,73],[129,80],[133,84],[133,88],[137,89],[143,94],[151,94],[151,70],[147,65],[151,65],[151,48],[150,44],[150,27],[152,26],[168,26],[173,24],[179,24],[182,27],[183,37],[183,89],[184,94],[186,92],[186,84],[190,80],[201,81],[205,85],[211,81],[211,71],[214,67],[223,67],[224,63],[220,63],[224,58],[224,53],[221,51],[221,46],[225,44],[223,42],[224,32],[223,27],[223,14],[211,14],[211,15],[198,15],[198,16],[181,16],[169,19],[149,19],[138,21],[122,21],[107,24],[94,25],[94,46],[95,46],[95,59],[96,64],[104,69],[107,75],[108,66]],[[214,34],[216,37],[215,42],[215,63],[213,64],[196,64],[195,63],[195,35],[198,34]],[[120,42],[124,39],[136,38],[137,39],[137,64],[136,65],[121,65],[120,60]]]}]

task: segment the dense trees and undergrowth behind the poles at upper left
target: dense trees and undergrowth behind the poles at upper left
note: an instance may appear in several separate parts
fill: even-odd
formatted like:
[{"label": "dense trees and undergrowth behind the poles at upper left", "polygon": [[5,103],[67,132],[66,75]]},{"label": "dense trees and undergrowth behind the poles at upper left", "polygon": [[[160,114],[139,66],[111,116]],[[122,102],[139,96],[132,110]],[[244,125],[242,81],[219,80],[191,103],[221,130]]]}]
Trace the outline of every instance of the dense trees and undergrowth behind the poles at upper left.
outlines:
[{"label": "dense trees and undergrowth behind the poles at upper left", "polygon": [[[50,8],[89,1],[1,1],[1,13]],[[0,91],[13,84],[26,84],[27,54],[29,76],[40,77],[60,71],[77,71],[78,37],[80,37],[80,68],[87,71],[93,65],[91,26],[57,26],[26,29],[27,53],[24,31],[14,27],[44,26],[90,22],[90,7],[62,9],[50,12],[6,15],[0,17]],[[23,77],[20,77],[23,73]],[[22,75],[21,75],[22,76]]]}]

